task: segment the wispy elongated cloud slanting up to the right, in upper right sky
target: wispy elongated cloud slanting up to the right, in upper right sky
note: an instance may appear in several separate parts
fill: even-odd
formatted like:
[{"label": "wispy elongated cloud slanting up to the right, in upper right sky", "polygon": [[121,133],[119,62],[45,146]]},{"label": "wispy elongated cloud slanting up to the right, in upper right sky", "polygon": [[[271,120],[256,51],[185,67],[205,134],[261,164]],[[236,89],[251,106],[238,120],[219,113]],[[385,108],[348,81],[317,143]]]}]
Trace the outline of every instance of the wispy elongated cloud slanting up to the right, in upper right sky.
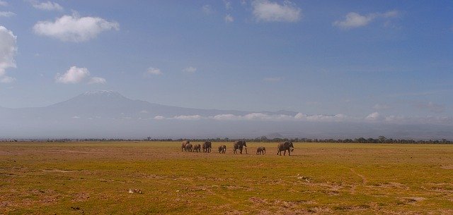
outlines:
[{"label": "wispy elongated cloud slanting up to the right, in upper right sky", "polygon": [[376,18],[396,18],[398,11],[387,11],[386,13],[369,13],[360,15],[359,13],[350,12],[346,14],[344,20],[336,20],[332,25],[348,30],[355,27],[363,27],[372,22]]}]

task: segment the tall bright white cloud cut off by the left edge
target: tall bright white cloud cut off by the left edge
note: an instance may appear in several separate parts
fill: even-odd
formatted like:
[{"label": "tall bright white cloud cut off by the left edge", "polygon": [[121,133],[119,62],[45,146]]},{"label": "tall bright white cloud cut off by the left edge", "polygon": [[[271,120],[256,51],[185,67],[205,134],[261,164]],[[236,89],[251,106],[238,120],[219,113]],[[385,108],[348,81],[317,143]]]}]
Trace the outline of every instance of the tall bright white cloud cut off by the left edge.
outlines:
[{"label": "tall bright white cloud cut off by the left edge", "polygon": [[11,30],[0,25],[0,82],[9,83],[15,80],[6,75],[7,68],[16,68],[14,56],[17,53],[17,37]]}]

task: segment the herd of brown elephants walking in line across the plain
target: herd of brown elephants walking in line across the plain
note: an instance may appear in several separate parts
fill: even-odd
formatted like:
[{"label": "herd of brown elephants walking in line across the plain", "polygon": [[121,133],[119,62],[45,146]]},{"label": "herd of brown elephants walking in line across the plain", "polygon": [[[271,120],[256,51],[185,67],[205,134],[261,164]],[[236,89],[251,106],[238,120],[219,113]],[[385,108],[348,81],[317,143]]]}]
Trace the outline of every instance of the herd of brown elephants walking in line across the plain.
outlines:
[{"label": "herd of brown elephants walking in line across the plain", "polygon": [[[189,140],[183,141],[181,143],[181,152],[206,152],[210,153],[212,149],[212,143],[210,141],[203,142],[202,145],[200,144],[195,144],[192,145]],[[220,154],[225,154],[226,152],[226,145],[219,145],[219,153]],[[242,154],[243,149],[245,149],[246,154],[247,154],[247,144],[243,140],[239,140],[233,143],[233,153],[234,154]],[[292,145],[292,142],[280,142],[277,145],[277,154],[278,155],[286,155],[286,151],[288,151],[288,155],[291,155],[291,152],[294,151],[294,146]],[[256,148],[256,154],[265,154],[266,153],[266,148],[265,147],[258,147]]]}]

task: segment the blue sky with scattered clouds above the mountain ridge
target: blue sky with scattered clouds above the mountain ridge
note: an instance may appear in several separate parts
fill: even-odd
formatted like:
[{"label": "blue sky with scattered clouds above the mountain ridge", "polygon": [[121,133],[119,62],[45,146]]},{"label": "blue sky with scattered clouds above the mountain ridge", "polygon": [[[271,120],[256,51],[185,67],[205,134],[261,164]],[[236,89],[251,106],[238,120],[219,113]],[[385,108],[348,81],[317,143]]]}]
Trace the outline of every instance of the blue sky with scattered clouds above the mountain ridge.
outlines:
[{"label": "blue sky with scattered clouds above the mountain ridge", "polygon": [[0,106],[91,90],[453,125],[452,1],[0,1]]}]

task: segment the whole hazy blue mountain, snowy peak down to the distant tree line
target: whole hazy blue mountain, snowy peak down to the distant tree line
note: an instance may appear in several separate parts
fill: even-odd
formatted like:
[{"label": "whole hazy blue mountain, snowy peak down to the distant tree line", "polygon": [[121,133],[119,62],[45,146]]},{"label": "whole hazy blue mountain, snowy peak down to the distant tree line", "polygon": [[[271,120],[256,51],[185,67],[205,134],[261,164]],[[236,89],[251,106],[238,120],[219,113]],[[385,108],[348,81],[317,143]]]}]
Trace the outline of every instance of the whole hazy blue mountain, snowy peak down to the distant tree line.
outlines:
[{"label": "whole hazy blue mountain, snowy peak down to the distant tree line", "polygon": [[[332,117],[332,116],[326,116]],[[191,109],[129,99],[103,90],[44,107],[0,107],[2,138],[453,138],[449,125],[297,121],[292,111]]]}]

